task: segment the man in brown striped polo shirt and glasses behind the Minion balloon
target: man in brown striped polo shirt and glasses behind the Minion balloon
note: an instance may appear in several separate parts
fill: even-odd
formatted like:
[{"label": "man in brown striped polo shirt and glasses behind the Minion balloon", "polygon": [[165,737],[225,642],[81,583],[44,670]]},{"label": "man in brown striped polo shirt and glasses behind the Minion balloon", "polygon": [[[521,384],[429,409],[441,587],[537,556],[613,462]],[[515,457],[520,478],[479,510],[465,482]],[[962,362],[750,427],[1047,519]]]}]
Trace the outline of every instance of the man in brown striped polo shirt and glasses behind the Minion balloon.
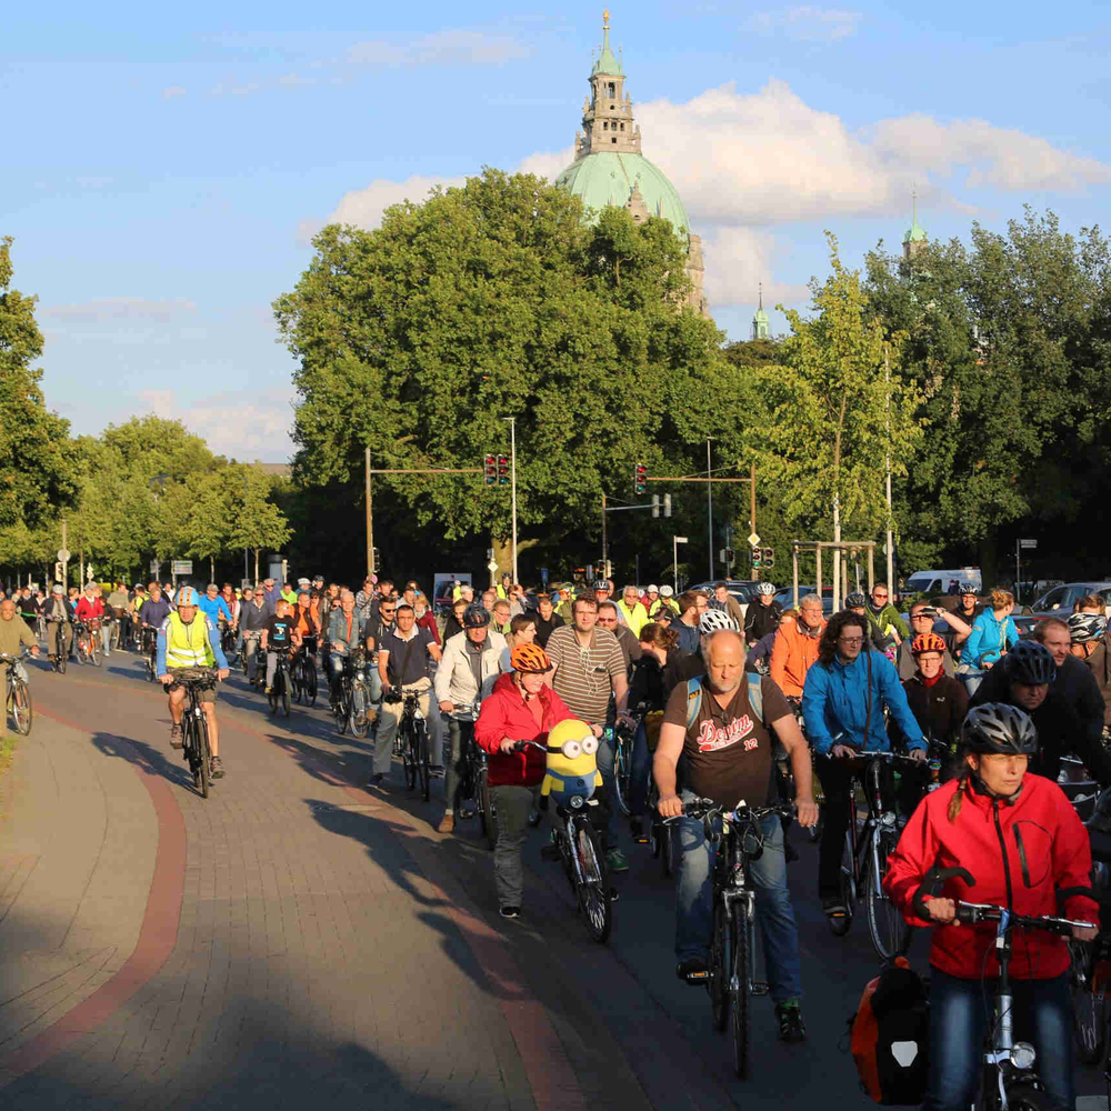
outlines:
[{"label": "man in brown striped polo shirt and glasses behind the Minion balloon", "polygon": [[[613,798],[613,740],[603,737],[609,720],[610,698],[617,713],[625,712],[629,694],[624,657],[617,637],[599,629],[598,602],[590,594],[574,600],[573,624],[557,629],[548,640],[548,655],[556,674],[552,687],[574,718],[587,722],[599,738],[598,770],[602,773],[605,801]],[[608,807],[607,862],[611,872],[625,872],[629,862],[618,847],[618,808]]]}]

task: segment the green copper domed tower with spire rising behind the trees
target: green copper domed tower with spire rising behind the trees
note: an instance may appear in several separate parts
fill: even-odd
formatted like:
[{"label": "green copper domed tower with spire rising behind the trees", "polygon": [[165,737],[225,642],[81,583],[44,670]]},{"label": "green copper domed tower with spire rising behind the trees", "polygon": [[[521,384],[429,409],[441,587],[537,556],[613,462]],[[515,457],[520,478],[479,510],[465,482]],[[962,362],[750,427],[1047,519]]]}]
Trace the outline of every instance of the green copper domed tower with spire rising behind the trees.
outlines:
[{"label": "green copper domed tower with spire rising behind the trees", "polygon": [[695,236],[675,187],[641,153],[640,128],[624,91],[624,70],[610,49],[610,13],[602,12],[602,47],[582,104],[582,129],[574,137],[574,161],[556,184],[597,213],[607,204],[627,208],[638,223],[650,216],[671,221],[687,251],[689,304],[709,316],[703,292],[702,239]]}]

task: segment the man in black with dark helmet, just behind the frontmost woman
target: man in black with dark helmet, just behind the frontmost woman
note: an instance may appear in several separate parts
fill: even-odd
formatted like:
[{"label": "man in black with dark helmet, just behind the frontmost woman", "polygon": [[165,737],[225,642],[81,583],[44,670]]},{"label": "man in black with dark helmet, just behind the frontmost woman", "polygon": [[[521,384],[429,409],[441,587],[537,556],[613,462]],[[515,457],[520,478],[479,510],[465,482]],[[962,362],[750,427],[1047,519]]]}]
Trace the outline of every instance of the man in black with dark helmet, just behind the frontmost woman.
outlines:
[{"label": "man in black with dark helmet, just behind the frontmost woman", "polygon": [[[1055,623],[1064,624],[1063,621]],[[1085,670],[1075,657],[1070,654],[1068,659]],[[1075,701],[1061,681],[1063,670],[1048,645],[1037,640],[1020,640],[1007,653],[1002,665],[993,668],[972,695],[972,705],[1005,702],[1031,717],[1038,730],[1033,770],[1039,775],[1055,780],[1061,770],[1061,757],[1075,752],[1100,785],[1107,787],[1111,784],[1111,755],[1102,744],[1102,712],[1095,722],[1098,731],[1093,733],[1088,721],[1079,717]],[[1091,680],[1091,674],[1088,678]]]}]

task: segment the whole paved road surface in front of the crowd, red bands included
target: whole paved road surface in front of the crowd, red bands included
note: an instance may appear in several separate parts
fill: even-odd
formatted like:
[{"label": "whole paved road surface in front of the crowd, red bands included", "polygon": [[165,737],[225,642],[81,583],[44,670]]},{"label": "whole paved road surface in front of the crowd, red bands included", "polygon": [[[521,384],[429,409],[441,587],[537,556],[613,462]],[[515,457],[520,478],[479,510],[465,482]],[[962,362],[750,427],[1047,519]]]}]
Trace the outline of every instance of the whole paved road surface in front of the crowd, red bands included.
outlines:
[{"label": "whole paved road surface in front of the crowd, red bands included", "polygon": [[[0,791],[0,1105],[872,1107],[845,1018],[875,962],[862,922],[830,937],[809,844],[791,871],[810,1039],[781,1044],[757,1000],[742,1084],[704,992],[674,979],[671,885],[643,847],[609,945],[540,833],[526,915],[502,922],[474,823],[434,832],[442,781],[429,804],[399,765],[361,789],[368,747],[322,709],[274,720],[233,677],[206,801],[134,655],[32,689]],[[1094,1070],[1081,1091],[1102,1093]]]}]

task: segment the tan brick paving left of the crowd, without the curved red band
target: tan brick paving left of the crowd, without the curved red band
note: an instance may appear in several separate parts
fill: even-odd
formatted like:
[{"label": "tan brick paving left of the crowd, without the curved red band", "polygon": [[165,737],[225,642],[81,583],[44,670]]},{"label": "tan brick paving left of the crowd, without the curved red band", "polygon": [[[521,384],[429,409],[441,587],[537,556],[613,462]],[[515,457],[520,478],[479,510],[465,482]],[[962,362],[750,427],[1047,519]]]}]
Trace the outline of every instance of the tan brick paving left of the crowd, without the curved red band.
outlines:
[{"label": "tan brick paving left of the crowd, without the curved red band", "polygon": [[[21,1071],[20,1053],[37,1067],[0,1100],[32,1111],[584,1105],[500,935],[464,892],[449,898],[429,878],[402,812],[344,782],[351,752],[268,724],[258,699],[231,692],[229,777],[201,800],[166,747],[164,701],[122,670],[33,679],[38,705],[62,720],[40,714],[21,742],[0,832],[0,1069]],[[100,731],[70,724],[90,719]],[[176,942],[114,1010],[51,1045],[58,1017],[103,998],[144,913],[149,924],[150,775],[184,832]],[[417,840],[434,852],[434,835]],[[620,1074],[623,1102],[647,1107]]]}]

